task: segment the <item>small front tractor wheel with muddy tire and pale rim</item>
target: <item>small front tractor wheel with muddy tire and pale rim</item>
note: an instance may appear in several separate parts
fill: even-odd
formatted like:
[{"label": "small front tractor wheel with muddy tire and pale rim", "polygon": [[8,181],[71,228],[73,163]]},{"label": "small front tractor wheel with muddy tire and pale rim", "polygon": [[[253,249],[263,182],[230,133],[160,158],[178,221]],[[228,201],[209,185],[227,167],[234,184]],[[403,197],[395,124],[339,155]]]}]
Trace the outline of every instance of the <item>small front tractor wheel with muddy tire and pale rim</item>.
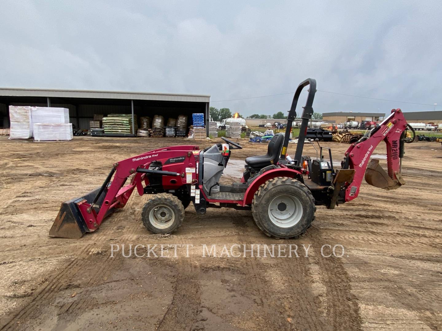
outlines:
[{"label": "small front tractor wheel with muddy tire and pale rim", "polygon": [[183,224],[183,203],[171,194],[156,194],[145,203],[141,211],[141,220],[153,233],[172,233]]}]

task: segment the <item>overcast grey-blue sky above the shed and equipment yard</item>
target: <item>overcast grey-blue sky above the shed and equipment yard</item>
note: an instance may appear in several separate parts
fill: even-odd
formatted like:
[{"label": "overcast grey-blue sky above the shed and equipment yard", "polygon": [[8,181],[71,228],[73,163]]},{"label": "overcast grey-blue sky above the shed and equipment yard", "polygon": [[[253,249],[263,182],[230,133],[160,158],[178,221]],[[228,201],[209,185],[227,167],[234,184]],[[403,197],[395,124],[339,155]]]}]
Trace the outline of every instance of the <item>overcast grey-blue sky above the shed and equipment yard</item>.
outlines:
[{"label": "overcast grey-blue sky above the shed and equipment yard", "polygon": [[[442,2],[0,2],[0,87],[210,94],[247,116],[442,110]],[[304,94],[305,95],[305,94]],[[305,103],[305,100],[302,100]]]}]

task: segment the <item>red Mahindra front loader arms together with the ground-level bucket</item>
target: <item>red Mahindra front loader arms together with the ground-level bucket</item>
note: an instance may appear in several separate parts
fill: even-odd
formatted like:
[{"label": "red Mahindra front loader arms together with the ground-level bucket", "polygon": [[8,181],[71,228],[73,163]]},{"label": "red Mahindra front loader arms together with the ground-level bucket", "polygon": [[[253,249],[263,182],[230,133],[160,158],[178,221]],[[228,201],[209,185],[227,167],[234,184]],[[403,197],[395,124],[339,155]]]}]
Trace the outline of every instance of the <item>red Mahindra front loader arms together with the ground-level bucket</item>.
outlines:
[{"label": "red Mahindra front loader arms together with the ground-level bucket", "polygon": [[[160,176],[162,181],[173,180],[175,183],[173,185],[177,188],[187,184],[182,165],[186,163],[188,167],[195,168],[193,151],[199,152],[198,146],[172,146],[151,150],[114,163],[101,187],[84,196],[61,203],[49,235],[80,238],[86,232],[95,231],[114,209],[126,205],[135,188],[140,196],[144,194],[142,183],[149,184],[146,175]],[[163,161],[163,170],[149,169],[149,164],[154,160]],[[192,180],[195,180],[195,174],[191,175]],[[126,184],[131,176],[133,177],[130,183]]]}]

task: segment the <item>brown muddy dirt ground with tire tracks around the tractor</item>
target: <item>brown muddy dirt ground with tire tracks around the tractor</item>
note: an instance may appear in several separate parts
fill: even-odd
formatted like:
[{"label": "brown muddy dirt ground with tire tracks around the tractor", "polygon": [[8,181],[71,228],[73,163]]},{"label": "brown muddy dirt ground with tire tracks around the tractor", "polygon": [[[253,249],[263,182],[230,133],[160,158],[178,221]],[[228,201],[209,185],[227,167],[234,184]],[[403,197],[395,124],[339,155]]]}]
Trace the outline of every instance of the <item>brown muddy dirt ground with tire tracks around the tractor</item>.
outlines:
[{"label": "brown muddy dirt ground with tire tracks around the tractor", "polygon": [[[267,149],[238,141],[244,149],[232,151],[233,160]],[[152,235],[140,221],[148,196],[136,193],[95,233],[79,240],[48,237],[60,203],[101,185],[114,162],[189,143],[194,141],[74,137],[34,143],[0,137],[0,328],[442,329],[440,143],[408,144],[405,186],[384,191],[364,182],[353,202],[335,210],[318,207],[312,227],[297,240],[266,237],[250,211],[208,209],[201,216],[192,204],[178,232]],[[348,147],[324,146],[332,147],[335,160]],[[381,146],[375,151],[383,153]],[[315,155],[312,147],[305,154]],[[232,172],[225,181],[232,181]],[[126,254],[129,244],[164,247],[153,249],[158,257],[126,258],[121,252],[111,257],[111,244],[125,244]],[[193,246],[188,255],[185,246],[178,248],[174,257],[172,244]],[[203,257],[204,244],[297,244],[299,257]],[[308,257],[302,244],[311,245]],[[324,257],[324,244],[343,245],[345,253]],[[241,252],[238,247],[233,253]],[[330,252],[326,246],[324,253]]]}]

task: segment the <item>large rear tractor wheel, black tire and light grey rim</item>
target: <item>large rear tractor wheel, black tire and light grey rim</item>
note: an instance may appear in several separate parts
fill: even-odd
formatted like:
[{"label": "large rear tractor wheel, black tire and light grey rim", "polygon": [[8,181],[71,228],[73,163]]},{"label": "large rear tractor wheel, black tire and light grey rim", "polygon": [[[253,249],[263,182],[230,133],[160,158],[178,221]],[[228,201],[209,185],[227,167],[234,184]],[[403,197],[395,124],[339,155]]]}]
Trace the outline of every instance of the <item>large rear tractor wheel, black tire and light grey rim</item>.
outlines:
[{"label": "large rear tractor wheel, black tire and light grey rim", "polygon": [[289,177],[276,177],[262,184],[251,205],[256,225],[267,236],[297,238],[315,217],[315,199],[309,188]]}]

